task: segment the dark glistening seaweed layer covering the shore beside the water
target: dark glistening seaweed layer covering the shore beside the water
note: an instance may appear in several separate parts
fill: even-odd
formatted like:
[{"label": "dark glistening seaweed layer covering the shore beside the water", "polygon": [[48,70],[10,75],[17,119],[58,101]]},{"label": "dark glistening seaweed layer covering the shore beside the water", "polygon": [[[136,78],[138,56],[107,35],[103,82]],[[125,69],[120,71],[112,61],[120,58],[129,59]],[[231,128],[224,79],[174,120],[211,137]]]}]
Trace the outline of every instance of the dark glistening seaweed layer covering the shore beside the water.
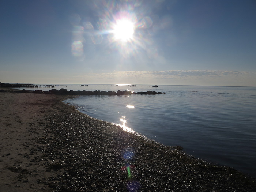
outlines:
[{"label": "dark glistening seaweed layer covering the shore beside the water", "polygon": [[[45,182],[55,191],[255,191],[255,179],[79,112],[46,117]],[[124,155],[125,154],[125,155]],[[38,158],[37,161],[39,161]]]}]

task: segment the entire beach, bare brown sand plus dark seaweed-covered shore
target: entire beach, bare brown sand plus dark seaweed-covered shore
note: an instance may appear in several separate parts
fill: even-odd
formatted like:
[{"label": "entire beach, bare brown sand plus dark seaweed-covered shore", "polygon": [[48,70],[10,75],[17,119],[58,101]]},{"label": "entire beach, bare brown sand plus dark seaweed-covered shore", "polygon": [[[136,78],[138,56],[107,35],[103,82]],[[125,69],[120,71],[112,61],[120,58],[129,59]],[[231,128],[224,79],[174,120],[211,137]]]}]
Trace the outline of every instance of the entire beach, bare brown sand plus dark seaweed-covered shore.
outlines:
[{"label": "entire beach, bare brown sand plus dark seaweed-covered shore", "polygon": [[256,191],[254,178],[82,114],[68,95],[19,92],[0,87],[0,191]]}]

